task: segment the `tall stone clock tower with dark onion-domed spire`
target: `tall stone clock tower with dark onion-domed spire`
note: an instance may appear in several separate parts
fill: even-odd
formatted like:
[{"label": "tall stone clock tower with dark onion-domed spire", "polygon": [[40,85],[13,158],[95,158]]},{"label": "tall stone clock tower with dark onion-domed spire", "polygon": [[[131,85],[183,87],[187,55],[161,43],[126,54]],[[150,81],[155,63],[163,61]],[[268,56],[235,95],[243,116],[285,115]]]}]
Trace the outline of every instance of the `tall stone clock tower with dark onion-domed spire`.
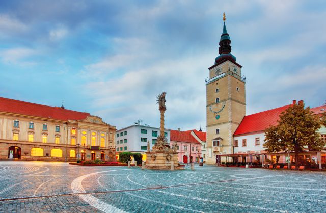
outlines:
[{"label": "tall stone clock tower with dark onion-domed spire", "polygon": [[225,26],[220,39],[219,56],[209,67],[206,80],[207,164],[225,161],[221,154],[233,153],[233,133],[246,115],[245,78],[242,66],[231,54],[231,39]]}]

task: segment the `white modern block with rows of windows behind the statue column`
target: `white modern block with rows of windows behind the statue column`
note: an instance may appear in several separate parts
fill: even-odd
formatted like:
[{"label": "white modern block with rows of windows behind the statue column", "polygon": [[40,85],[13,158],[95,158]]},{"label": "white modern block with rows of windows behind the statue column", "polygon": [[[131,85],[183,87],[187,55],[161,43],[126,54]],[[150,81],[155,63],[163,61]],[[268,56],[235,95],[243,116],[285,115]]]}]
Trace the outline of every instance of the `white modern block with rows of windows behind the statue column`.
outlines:
[{"label": "white modern block with rows of windows behind the statue column", "polygon": [[[170,129],[164,130],[164,135],[170,143]],[[150,148],[157,142],[159,136],[159,128],[134,124],[122,128],[116,133],[116,159],[119,159],[119,153],[132,152],[141,153],[143,161],[146,161],[147,142]]]}]

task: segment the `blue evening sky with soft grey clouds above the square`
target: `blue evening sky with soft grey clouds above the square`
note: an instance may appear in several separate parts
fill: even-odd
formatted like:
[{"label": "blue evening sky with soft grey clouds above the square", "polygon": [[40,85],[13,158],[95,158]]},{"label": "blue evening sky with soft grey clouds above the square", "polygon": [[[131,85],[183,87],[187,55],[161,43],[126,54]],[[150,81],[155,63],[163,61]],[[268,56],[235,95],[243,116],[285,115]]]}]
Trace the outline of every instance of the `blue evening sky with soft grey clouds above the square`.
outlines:
[{"label": "blue evening sky with soft grey clouds above the square", "polygon": [[0,1],[0,96],[89,112],[117,129],[141,119],[206,126],[208,67],[222,14],[246,76],[247,115],[326,100],[324,1]]}]

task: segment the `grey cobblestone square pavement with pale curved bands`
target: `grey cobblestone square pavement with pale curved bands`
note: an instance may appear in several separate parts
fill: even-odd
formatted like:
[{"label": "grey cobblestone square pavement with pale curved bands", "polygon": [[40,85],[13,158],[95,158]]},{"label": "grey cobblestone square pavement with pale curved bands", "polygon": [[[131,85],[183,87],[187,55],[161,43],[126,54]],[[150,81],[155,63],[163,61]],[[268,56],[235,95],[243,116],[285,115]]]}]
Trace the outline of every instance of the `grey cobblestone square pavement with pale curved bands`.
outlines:
[{"label": "grey cobblestone square pavement with pale curved bands", "polygon": [[0,212],[324,212],[326,173],[0,161]]}]

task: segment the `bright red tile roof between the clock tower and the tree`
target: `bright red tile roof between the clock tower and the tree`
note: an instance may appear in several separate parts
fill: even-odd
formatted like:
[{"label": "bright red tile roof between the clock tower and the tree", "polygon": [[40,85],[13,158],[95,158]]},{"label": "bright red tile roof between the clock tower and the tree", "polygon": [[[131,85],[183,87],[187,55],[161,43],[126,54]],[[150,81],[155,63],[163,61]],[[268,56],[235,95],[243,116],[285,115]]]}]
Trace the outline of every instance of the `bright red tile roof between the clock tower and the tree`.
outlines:
[{"label": "bright red tile roof between the clock tower and the tree", "polygon": [[280,114],[292,104],[260,113],[244,116],[240,125],[234,132],[234,136],[250,132],[264,131],[269,126],[276,126],[280,120]]}]

